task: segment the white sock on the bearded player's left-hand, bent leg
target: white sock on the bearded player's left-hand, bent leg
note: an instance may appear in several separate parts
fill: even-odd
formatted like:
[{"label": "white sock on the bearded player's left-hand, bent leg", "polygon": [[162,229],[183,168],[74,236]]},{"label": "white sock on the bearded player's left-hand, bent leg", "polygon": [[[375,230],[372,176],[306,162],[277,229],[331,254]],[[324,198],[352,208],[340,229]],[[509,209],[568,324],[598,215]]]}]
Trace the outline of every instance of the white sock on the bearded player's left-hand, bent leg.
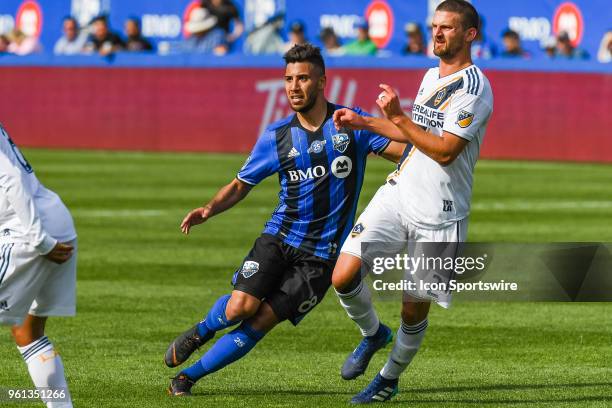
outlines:
[{"label": "white sock on the bearded player's left-hand, bent leg", "polygon": [[380,321],[372,305],[370,289],[363,281],[349,293],[336,291],[340,304],[346,313],[359,326],[363,336],[373,336],[378,330]]}]

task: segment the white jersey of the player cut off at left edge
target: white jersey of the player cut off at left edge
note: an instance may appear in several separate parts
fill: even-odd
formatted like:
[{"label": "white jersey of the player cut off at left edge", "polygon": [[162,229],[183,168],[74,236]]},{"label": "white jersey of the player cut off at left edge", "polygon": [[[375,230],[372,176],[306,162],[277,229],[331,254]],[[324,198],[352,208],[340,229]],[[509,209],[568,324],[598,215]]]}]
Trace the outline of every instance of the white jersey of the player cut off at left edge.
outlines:
[{"label": "white jersey of the player cut off at left edge", "polygon": [[0,125],[0,243],[24,242],[40,254],[76,238],[70,212],[32,167]]}]

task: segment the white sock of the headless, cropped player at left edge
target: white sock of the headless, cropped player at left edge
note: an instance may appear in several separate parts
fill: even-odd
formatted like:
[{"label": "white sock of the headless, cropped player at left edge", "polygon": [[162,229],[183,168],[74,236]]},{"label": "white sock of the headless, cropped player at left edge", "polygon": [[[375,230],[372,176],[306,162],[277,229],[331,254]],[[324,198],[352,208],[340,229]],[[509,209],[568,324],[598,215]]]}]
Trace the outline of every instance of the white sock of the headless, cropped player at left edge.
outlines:
[{"label": "white sock of the headless, cropped player at left edge", "polygon": [[24,347],[17,347],[28,365],[34,386],[52,393],[62,393],[64,398],[43,399],[47,408],[72,408],[72,401],[64,377],[64,365],[53,344],[43,336]]}]

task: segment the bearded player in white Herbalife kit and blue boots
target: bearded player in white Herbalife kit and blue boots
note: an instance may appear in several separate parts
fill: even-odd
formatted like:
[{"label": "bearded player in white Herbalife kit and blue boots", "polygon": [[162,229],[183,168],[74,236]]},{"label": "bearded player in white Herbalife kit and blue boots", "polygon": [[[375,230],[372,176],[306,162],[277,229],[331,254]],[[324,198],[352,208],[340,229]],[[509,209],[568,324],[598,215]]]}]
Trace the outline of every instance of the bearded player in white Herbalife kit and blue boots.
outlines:
[{"label": "bearded player in white Herbalife kit and blue boots", "polygon": [[[366,129],[414,146],[360,216],[333,272],[340,303],[364,336],[342,367],[345,379],[363,374],[372,355],[392,338],[361,279],[361,243],[455,242],[456,247],[456,242],[466,239],[474,166],[493,108],[489,81],[470,57],[478,29],[478,13],[468,2],[446,0],[436,8],[432,38],[440,63],[425,74],[412,118],[402,112],[394,90],[384,84],[376,102],[385,118],[347,109],[335,112],[338,128]],[[427,298],[404,295],[391,355],[351,402],[386,401],[397,393],[399,376],[425,335],[429,306]]]}]

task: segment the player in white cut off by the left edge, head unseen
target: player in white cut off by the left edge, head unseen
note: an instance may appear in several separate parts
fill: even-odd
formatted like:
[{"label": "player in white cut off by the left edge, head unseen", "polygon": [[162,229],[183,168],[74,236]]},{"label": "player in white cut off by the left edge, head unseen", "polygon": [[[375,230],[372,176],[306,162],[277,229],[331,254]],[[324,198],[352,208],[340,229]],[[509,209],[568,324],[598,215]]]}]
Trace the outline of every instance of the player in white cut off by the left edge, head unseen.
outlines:
[{"label": "player in white cut off by the left edge, head unseen", "polygon": [[0,190],[0,324],[12,326],[37,388],[33,395],[49,408],[72,407],[62,360],[45,336],[45,322],[48,316],[75,314],[74,223],[1,125]]}]

